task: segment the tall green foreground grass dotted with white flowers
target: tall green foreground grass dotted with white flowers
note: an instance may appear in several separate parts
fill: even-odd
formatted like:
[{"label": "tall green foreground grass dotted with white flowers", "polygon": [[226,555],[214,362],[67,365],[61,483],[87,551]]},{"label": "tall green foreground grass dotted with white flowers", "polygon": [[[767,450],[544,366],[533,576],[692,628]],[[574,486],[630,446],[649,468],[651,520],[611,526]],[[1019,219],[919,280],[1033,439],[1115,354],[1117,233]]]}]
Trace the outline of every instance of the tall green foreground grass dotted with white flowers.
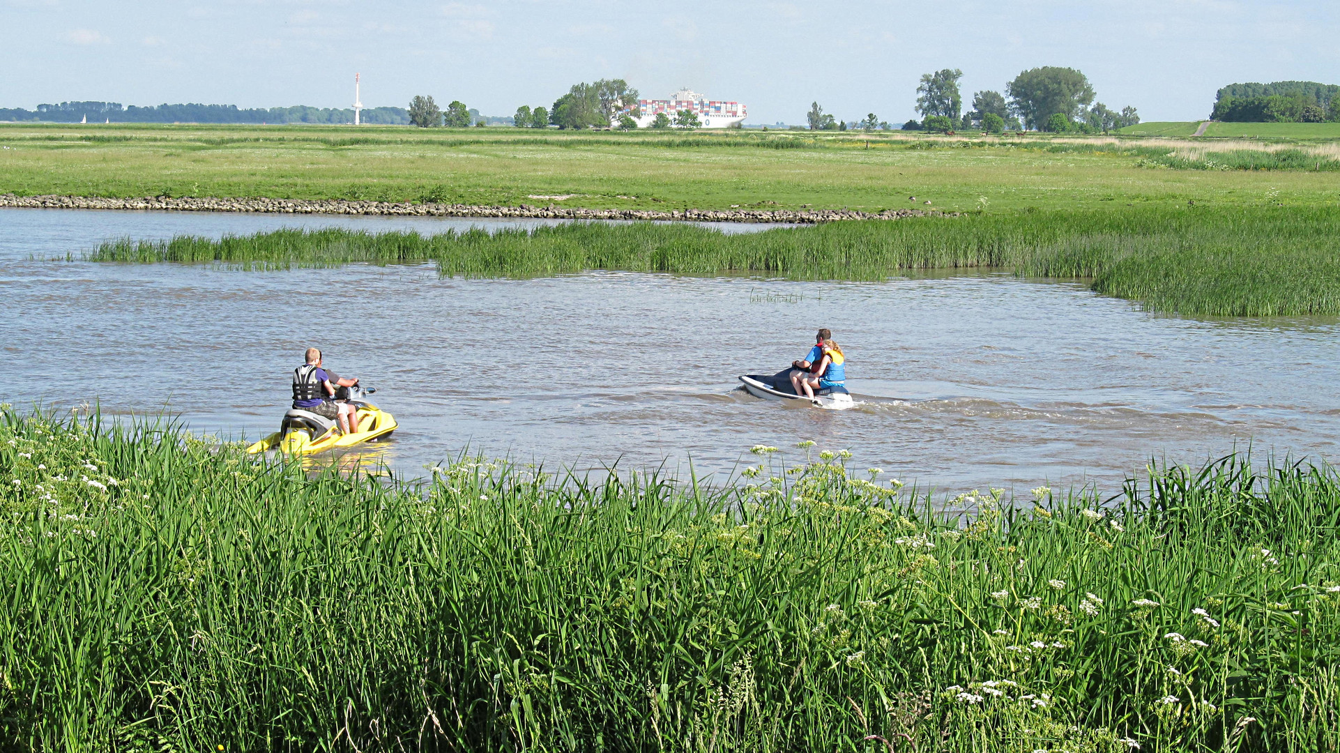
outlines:
[{"label": "tall green foreground grass dotted with white flowers", "polygon": [[0,746],[1340,744],[1332,469],[937,512],[832,450],[756,448],[724,486],[477,460],[409,485],[5,407]]}]

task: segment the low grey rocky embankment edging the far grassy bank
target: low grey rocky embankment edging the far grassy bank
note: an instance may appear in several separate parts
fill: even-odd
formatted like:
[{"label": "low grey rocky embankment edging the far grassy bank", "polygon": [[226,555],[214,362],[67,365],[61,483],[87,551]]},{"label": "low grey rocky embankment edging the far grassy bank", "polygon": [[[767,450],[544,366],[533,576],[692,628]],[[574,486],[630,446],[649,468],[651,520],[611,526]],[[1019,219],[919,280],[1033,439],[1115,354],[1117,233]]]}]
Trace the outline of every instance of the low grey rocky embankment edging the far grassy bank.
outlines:
[{"label": "low grey rocky embankment edging the far grassy bank", "polygon": [[955,216],[938,209],[582,209],[575,206],[474,206],[391,201],[304,201],[296,198],[98,198],[90,196],[0,194],[0,206],[32,209],[157,209],[168,212],[261,212],[271,214],[398,214],[414,217],[536,217],[545,220],[687,220],[693,222],[833,222]]}]

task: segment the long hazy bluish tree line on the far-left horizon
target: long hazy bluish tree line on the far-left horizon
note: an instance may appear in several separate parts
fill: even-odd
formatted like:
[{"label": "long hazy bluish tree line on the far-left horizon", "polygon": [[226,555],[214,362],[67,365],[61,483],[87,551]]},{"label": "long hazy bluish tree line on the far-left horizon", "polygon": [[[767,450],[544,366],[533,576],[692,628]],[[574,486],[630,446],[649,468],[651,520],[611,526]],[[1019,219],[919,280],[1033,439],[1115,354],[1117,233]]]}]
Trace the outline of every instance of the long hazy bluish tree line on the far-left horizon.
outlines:
[{"label": "long hazy bluish tree line on the far-left horizon", "polygon": [[[123,107],[119,102],[62,102],[38,105],[36,110],[0,109],[0,121],[42,121],[48,123],[352,123],[354,110],[338,107],[255,107],[236,105],[155,105]],[[409,113],[401,107],[368,107],[359,119],[368,125],[405,125]]]}]

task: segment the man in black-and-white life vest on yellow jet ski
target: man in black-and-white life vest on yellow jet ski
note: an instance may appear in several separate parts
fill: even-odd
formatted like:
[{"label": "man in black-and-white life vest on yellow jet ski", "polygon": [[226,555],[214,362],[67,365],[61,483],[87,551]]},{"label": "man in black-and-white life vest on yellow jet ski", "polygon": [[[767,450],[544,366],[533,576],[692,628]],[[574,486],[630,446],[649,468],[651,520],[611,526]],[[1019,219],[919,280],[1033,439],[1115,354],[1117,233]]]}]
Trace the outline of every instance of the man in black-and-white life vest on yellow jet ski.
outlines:
[{"label": "man in black-and-white life vest on yellow jet ski", "polygon": [[307,348],[307,362],[293,370],[293,407],[279,431],[247,448],[248,453],[279,449],[285,454],[312,454],[390,437],[395,418],[366,402],[358,379],[342,379],[322,364],[322,351]]}]

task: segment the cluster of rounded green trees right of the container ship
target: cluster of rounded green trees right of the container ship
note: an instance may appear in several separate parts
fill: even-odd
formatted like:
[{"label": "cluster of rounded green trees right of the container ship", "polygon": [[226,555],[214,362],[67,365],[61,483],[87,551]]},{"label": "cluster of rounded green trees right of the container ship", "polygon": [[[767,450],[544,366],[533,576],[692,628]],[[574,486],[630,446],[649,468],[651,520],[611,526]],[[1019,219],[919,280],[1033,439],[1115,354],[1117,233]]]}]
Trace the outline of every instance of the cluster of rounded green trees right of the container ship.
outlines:
[{"label": "cluster of rounded green trees right of the container ship", "polygon": [[[984,130],[1001,133],[1012,130],[1040,130],[1052,133],[1108,133],[1140,122],[1135,107],[1112,110],[1093,102],[1093,87],[1088,78],[1075,68],[1044,66],[1022,71],[1005,84],[1005,92],[978,91],[973,94],[973,109],[963,111],[963,96],[958,80],[963,71],[945,68],[925,74],[917,86],[917,111],[923,119],[911,119],[903,130],[950,133],[954,130]],[[825,114],[817,102],[807,117],[811,130],[890,130],[894,126],[879,121],[874,113],[851,123]]]}]

